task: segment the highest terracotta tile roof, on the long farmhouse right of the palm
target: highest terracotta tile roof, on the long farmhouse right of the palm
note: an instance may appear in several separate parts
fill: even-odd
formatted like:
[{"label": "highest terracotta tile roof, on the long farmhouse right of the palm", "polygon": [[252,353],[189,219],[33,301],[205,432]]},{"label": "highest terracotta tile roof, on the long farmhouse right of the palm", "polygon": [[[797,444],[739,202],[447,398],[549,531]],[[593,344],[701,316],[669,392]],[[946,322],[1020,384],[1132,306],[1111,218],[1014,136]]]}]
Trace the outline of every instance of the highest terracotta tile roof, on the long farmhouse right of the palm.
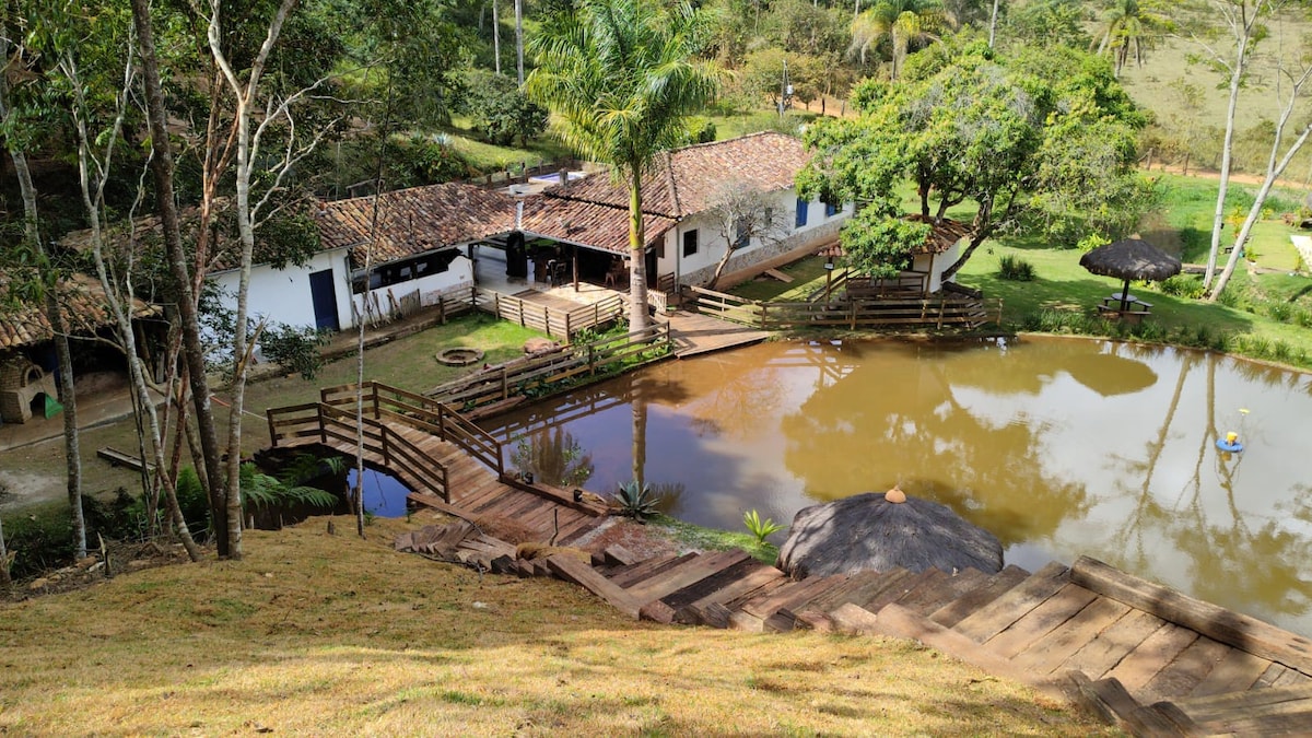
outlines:
[{"label": "highest terracotta tile roof, on the long farmhouse right of the palm", "polygon": [[[770,131],[665,151],[643,176],[643,211],[666,218],[702,213],[735,184],[765,192],[787,189],[810,158],[799,139]],[[554,186],[546,194],[628,207],[627,188],[607,173]]]}]

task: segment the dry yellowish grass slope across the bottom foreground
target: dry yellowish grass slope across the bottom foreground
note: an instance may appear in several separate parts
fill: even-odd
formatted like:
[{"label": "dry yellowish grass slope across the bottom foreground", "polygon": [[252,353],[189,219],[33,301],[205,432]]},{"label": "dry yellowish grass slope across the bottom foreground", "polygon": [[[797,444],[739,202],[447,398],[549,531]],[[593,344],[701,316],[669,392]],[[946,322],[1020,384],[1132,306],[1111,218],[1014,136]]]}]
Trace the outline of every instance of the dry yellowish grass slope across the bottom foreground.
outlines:
[{"label": "dry yellowish grass slope across the bottom foreground", "polygon": [[[349,520],[338,531],[353,531]],[[914,643],[634,624],[323,519],[247,558],[0,605],[0,733],[1081,734],[1106,730]]]}]

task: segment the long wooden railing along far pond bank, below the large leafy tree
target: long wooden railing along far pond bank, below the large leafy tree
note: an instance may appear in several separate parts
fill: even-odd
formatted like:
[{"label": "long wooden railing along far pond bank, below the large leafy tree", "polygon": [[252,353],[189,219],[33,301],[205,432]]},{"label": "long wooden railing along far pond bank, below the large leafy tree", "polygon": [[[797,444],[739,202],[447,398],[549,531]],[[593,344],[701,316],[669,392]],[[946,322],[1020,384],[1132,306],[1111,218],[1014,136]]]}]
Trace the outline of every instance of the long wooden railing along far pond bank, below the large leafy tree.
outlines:
[{"label": "long wooden railing along far pond bank, below the large leafy tree", "polygon": [[945,292],[929,298],[886,297],[830,302],[761,302],[737,295],[689,288],[701,313],[765,331],[781,328],[844,326],[979,326],[1001,322],[1002,301],[984,301]]}]

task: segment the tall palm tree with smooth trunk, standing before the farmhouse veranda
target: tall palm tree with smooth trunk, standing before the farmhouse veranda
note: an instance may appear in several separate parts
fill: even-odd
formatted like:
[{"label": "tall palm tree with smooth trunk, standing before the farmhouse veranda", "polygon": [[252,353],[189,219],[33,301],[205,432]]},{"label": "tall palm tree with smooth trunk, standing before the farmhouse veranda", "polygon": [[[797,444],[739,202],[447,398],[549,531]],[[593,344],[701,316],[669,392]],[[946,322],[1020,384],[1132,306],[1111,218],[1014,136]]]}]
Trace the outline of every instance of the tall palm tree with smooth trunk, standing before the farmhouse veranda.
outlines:
[{"label": "tall palm tree with smooth trunk, standing before the farmhouse veranda", "polygon": [[610,164],[628,186],[631,331],[648,324],[642,176],[719,88],[716,67],[698,56],[706,30],[687,3],[584,0],[531,43],[529,96],[564,119],[571,148]]}]

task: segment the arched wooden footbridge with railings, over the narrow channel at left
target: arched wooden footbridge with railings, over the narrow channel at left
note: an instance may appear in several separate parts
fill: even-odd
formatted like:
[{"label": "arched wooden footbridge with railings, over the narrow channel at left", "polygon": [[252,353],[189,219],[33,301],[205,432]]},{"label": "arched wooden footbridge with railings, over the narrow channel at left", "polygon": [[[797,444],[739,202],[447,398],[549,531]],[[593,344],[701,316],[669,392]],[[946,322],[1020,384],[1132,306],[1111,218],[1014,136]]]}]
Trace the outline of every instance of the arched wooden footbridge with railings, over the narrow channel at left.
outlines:
[{"label": "arched wooden footbridge with railings, over the narrow channel at left", "polygon": [[[362,433],[357,408],[363,408]],[[602,504],[505,471],[501,443],[443,403],[379,382],[320,390],[320,401],[266,411],[277,448],[320,445],[396,477],[417,504],[468,520],[505,517],[567,545],[596,528]]]}]

